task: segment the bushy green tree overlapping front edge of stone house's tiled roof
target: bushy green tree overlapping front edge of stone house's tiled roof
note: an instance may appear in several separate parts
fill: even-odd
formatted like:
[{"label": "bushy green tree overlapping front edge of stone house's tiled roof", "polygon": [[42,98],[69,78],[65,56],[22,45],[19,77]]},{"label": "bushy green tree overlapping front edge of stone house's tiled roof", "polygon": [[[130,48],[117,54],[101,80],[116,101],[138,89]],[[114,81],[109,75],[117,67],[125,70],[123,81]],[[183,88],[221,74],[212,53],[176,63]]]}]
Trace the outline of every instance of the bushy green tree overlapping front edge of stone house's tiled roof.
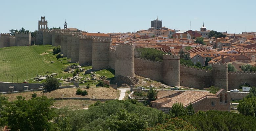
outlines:
[{"label": "bushy green tree overlapping front edge of stone house's tiled roof", "polygon": [[184,109],[183,107],[183,104],[182,103],[177,103],[175,102],[173,105],[172,105],[172,109],[170,110],[169,112],[169,115],[171,117],[178,117],[178,116],[184,116],[186,115],[186,110]]}]

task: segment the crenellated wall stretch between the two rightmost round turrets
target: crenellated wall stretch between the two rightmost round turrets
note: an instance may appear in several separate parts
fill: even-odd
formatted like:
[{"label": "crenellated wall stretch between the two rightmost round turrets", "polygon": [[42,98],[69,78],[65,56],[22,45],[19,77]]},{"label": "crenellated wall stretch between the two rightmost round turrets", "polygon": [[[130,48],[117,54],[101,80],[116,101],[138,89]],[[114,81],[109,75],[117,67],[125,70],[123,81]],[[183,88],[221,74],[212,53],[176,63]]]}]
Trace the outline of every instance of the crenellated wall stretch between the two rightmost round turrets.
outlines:
[{"label": "crenellated wall stretch between the two rightmost round turrets", "polygon": [[180,65],[181,86],[203,89],[213,84],[212,70]]}]

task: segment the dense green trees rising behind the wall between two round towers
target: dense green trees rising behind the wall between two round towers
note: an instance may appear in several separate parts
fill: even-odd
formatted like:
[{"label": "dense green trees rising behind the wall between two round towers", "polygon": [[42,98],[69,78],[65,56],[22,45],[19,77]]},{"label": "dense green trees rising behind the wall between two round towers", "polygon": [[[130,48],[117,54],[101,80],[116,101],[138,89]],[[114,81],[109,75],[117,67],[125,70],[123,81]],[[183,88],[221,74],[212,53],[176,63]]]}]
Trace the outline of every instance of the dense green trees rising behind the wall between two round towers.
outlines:
[{"label": "dense green trees rising behind the wall between two round towers", "polygon": [[148,60],[162,61],[163,55],[167,54],[154,48],[136,48],[135,57],[146,58]]}]

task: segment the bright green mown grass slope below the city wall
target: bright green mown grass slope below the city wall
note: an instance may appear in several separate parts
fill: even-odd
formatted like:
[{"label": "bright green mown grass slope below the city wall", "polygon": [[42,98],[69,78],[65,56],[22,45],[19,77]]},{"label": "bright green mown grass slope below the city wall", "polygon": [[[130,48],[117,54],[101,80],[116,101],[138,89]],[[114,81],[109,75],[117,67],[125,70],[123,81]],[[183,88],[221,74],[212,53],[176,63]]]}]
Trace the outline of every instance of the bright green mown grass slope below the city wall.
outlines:
[{"label": "bright green mown grass slope below the city wall", "polygon": [[[57,78],[72,77],[73,73],[65,73],[63,70],[69,65],[78,64],[68,62],[67,58],[57,59],[57,54],[53,55],[52,53],[53,48],[51,45],[0,48],[0,81],[6,82],[8,78],[8,82],[21,83],[28,80],[29,83],[35,83],[32,82],[32,78],[36,77],[36,74],[52,73],[57,73]],[[92,66],[83,68],[90,69]],[[7,77],[6,74],[9,76]],[[97,71],[96,74],[109,78],[114,77],[108,70]],[[80,76],[86,77],[82,74]]]}]

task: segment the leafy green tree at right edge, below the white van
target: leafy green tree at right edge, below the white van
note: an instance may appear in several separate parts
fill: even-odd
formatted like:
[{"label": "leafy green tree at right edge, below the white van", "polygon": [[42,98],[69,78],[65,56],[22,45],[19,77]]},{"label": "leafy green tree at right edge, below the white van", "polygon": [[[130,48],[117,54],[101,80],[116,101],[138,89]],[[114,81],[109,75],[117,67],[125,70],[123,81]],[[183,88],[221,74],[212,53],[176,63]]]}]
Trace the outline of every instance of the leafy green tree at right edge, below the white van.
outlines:
[{"label": "leafy green tree at right edge, below the white van", "polygon": [[256,114],[256,97],[243,98],[237,105],[237,110],[245,116],[253,116]]}]

